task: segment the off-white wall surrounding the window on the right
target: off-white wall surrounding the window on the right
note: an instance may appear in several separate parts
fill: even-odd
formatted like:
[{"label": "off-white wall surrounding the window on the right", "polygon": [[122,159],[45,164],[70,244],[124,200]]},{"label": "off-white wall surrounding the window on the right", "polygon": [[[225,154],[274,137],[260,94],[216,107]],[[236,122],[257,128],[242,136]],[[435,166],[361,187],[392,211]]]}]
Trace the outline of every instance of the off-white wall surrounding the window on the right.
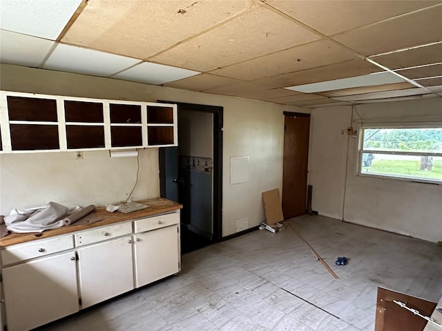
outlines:
[{"label": "off-white wall surrounding the window on the right", "polygon": [[[359,105],[353,115],[379,122],[429,121],[441,109],[442,99],[436,98]],[[312,208],[352,223],[441,241],[442,185],[356,176],[357,139],[340,137],[340,130],[352,126],[351,118],[351,107],[316,108],[312,114]]]}]

